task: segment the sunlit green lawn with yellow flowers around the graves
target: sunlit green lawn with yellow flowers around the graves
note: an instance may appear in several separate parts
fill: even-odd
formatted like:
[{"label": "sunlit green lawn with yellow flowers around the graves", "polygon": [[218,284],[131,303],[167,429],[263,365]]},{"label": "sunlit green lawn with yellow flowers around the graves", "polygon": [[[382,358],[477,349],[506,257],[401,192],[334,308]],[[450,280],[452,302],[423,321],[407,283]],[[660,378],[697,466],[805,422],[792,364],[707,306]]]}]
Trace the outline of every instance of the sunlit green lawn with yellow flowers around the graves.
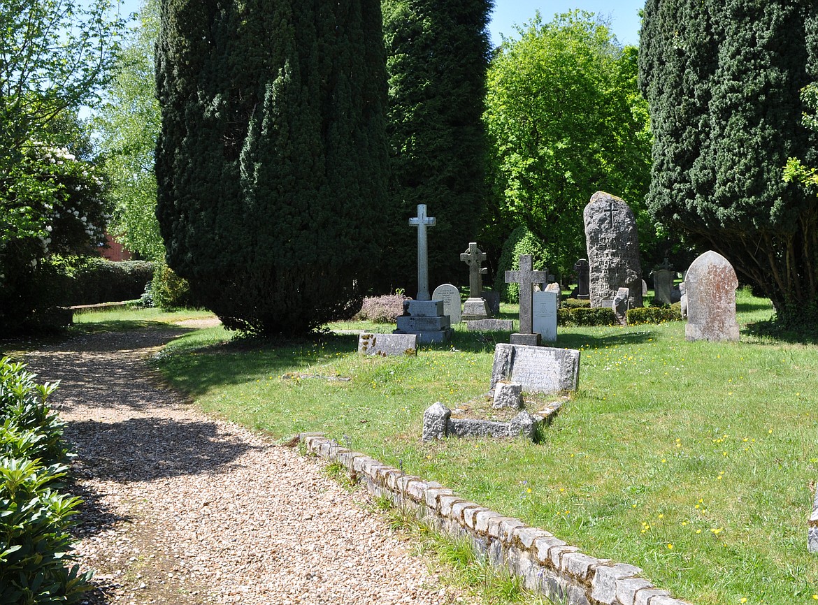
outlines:
[{"label": "sunlit green lawn with yellow flowers around the graves", "polygon": [[[742,325],[771,316],[744,291],[738,309]],[[583,552],[643,567],[691,603],[816,603],[818,557],[806,544],[816,349],[744,330],[741,343],[688,343],[684,327],[561,328],[555,346],[582,351],[580,389],[536,445],[420,441],[427,406],[488,390],[494,343],[508,334],[458,329],[416,358],[381,359],[359,358],[354,334],[262,345],[211,328],[156,363],[205,410],[275,437],[326,432]]]}]

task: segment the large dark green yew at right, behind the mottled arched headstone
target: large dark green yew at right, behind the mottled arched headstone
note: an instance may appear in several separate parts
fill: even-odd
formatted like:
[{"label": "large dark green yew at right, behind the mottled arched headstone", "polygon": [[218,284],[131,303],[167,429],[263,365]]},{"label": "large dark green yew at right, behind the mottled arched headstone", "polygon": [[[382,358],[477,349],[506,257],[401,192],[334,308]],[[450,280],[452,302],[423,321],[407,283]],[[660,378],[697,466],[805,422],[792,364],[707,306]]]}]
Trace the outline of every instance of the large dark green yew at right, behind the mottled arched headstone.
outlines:
[{"label": "large dark green yew at right, behind the mottled arched headstone", "polygon": [[639,59],[649,208],[723,254],[784,323],[802,321],[818,303],[818,200],[782,169],[818,156],[799,98],[818,76],[818,4],[648,0]]}]

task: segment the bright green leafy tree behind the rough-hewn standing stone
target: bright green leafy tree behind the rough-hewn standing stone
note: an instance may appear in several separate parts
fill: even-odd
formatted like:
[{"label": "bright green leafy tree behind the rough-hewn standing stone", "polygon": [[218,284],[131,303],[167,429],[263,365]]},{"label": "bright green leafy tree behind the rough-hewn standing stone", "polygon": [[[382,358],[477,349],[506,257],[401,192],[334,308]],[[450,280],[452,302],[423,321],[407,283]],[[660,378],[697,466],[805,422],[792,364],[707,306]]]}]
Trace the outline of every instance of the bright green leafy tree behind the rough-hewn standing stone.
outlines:
[{"label": "bright green leafy tree behind the rough-hewn standing stone", "polygon": [[488,71],[483,119],[493,145],[501,222],[524,225],[551,271],[585,256],[582,210],[596,190],[625,199],[640,241],[653,242],[642,199],[648,188],[647,107],[636,87],[636,48],[573,11],[503,40]]}]

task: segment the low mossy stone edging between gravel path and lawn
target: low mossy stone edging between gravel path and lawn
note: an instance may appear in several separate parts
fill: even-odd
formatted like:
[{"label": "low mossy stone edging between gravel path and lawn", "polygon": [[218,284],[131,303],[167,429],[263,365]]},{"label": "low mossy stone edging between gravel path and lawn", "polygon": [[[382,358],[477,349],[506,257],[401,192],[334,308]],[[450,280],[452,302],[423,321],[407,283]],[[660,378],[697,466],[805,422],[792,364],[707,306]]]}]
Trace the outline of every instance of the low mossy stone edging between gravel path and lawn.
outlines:
[{"label": "low mossy stone edging between gravel path and lawn", "polygon": [[373,495],[386,496],[438,531],[467,536],[495,567],[507,567],[527,589],[570,605],[690,605],[639,577],[639,567],[590,557],[519,519],[458,497],[437,482],[406,475],[315,433],[299,436],[308,454],[349,469]]}]

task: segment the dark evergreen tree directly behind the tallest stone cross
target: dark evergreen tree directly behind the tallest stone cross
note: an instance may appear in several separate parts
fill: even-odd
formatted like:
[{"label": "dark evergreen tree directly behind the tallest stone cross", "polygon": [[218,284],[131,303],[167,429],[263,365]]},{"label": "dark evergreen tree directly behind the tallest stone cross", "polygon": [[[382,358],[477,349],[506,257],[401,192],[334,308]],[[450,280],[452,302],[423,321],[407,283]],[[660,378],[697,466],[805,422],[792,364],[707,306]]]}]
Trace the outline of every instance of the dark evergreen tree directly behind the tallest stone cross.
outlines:
[{"label": "dark evergreen tree directly behind the tallest stone cross", "polygon": [[487,195],[481,116],[492,0],[384,0],[389,74],[389,252],[381,289],[417,291],[416,229],[427,204],[429,287],[463,284],[460,253],[479,231]]}]

